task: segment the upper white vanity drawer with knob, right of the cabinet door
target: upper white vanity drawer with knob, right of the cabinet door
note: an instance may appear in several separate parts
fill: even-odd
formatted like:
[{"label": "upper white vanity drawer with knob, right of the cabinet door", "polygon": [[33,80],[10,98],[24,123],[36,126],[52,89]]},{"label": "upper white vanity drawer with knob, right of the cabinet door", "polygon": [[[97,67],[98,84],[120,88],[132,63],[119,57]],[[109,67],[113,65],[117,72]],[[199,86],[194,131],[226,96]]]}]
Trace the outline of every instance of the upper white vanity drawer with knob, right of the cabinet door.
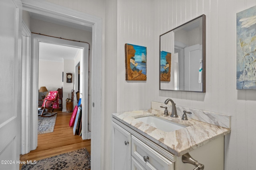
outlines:
[{"label": "upper white vanity drawer with knob, right of the cabinet door", "polygon": [[146,170],[173,170],[174,164],[160,152],[132,135],[132,156]]}]

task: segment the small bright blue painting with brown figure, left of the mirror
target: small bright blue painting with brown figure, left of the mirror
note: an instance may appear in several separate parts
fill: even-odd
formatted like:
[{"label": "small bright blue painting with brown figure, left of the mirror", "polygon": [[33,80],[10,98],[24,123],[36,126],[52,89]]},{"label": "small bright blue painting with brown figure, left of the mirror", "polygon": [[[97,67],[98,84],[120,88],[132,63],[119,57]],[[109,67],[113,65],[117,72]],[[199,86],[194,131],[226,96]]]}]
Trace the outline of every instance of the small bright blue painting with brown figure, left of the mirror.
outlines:
[{"label": "small bright blue painting with brown figure, left of the mirror", "polygon": [[147,48],[125,44],[126,80],[147,80]]}]

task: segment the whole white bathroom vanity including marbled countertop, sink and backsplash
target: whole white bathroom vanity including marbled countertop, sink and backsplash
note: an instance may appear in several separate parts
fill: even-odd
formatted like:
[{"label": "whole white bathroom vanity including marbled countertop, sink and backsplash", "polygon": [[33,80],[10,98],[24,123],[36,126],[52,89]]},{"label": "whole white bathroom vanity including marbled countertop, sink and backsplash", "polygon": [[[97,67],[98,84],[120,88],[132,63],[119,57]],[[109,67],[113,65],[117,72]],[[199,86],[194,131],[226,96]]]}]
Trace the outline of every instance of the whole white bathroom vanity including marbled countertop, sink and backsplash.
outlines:
[{"label": "whole white bathroom vanity including marbled countertop, sink and backsplash", "polygon": [[[217,124],[213,125],[195,120],[208,121],[206,111],[176,106],[179,117],[172,118],[164,116],[160,106],[166,105],[152,102],[152,109],[112,114],[112,169],[194,170],[196,166],[182,162],[182,155],[189,152],[206,170],[223,170],[230,116],[210,113]],[[168,111],[171,108],[168,105]],[[192,112],[188,120],[181,119],[185,109]]]}]

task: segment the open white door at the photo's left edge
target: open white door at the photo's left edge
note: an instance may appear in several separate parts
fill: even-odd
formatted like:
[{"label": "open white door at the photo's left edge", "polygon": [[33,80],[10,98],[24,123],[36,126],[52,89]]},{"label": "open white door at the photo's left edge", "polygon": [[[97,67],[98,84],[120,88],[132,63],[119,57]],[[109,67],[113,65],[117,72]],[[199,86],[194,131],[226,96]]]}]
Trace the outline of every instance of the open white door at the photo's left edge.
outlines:
[{"label": "open white door at the photo's left edge", "polygon": [[0,169],[18,170],[21,109],[20,0],[0,1]]}]

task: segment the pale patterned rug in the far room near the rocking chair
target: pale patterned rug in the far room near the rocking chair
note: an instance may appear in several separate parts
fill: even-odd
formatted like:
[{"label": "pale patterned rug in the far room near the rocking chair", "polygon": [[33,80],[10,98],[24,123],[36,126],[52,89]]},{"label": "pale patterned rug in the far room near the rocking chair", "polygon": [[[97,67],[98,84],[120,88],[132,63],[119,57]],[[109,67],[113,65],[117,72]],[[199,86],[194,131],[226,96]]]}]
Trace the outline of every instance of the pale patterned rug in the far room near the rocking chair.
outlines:
[{"label": "pale patterned rug in the far room near the rocking chair", "polygon": [[38,134],[53,132],[56,117],[57,115],[52,117],[38,116]]}]

